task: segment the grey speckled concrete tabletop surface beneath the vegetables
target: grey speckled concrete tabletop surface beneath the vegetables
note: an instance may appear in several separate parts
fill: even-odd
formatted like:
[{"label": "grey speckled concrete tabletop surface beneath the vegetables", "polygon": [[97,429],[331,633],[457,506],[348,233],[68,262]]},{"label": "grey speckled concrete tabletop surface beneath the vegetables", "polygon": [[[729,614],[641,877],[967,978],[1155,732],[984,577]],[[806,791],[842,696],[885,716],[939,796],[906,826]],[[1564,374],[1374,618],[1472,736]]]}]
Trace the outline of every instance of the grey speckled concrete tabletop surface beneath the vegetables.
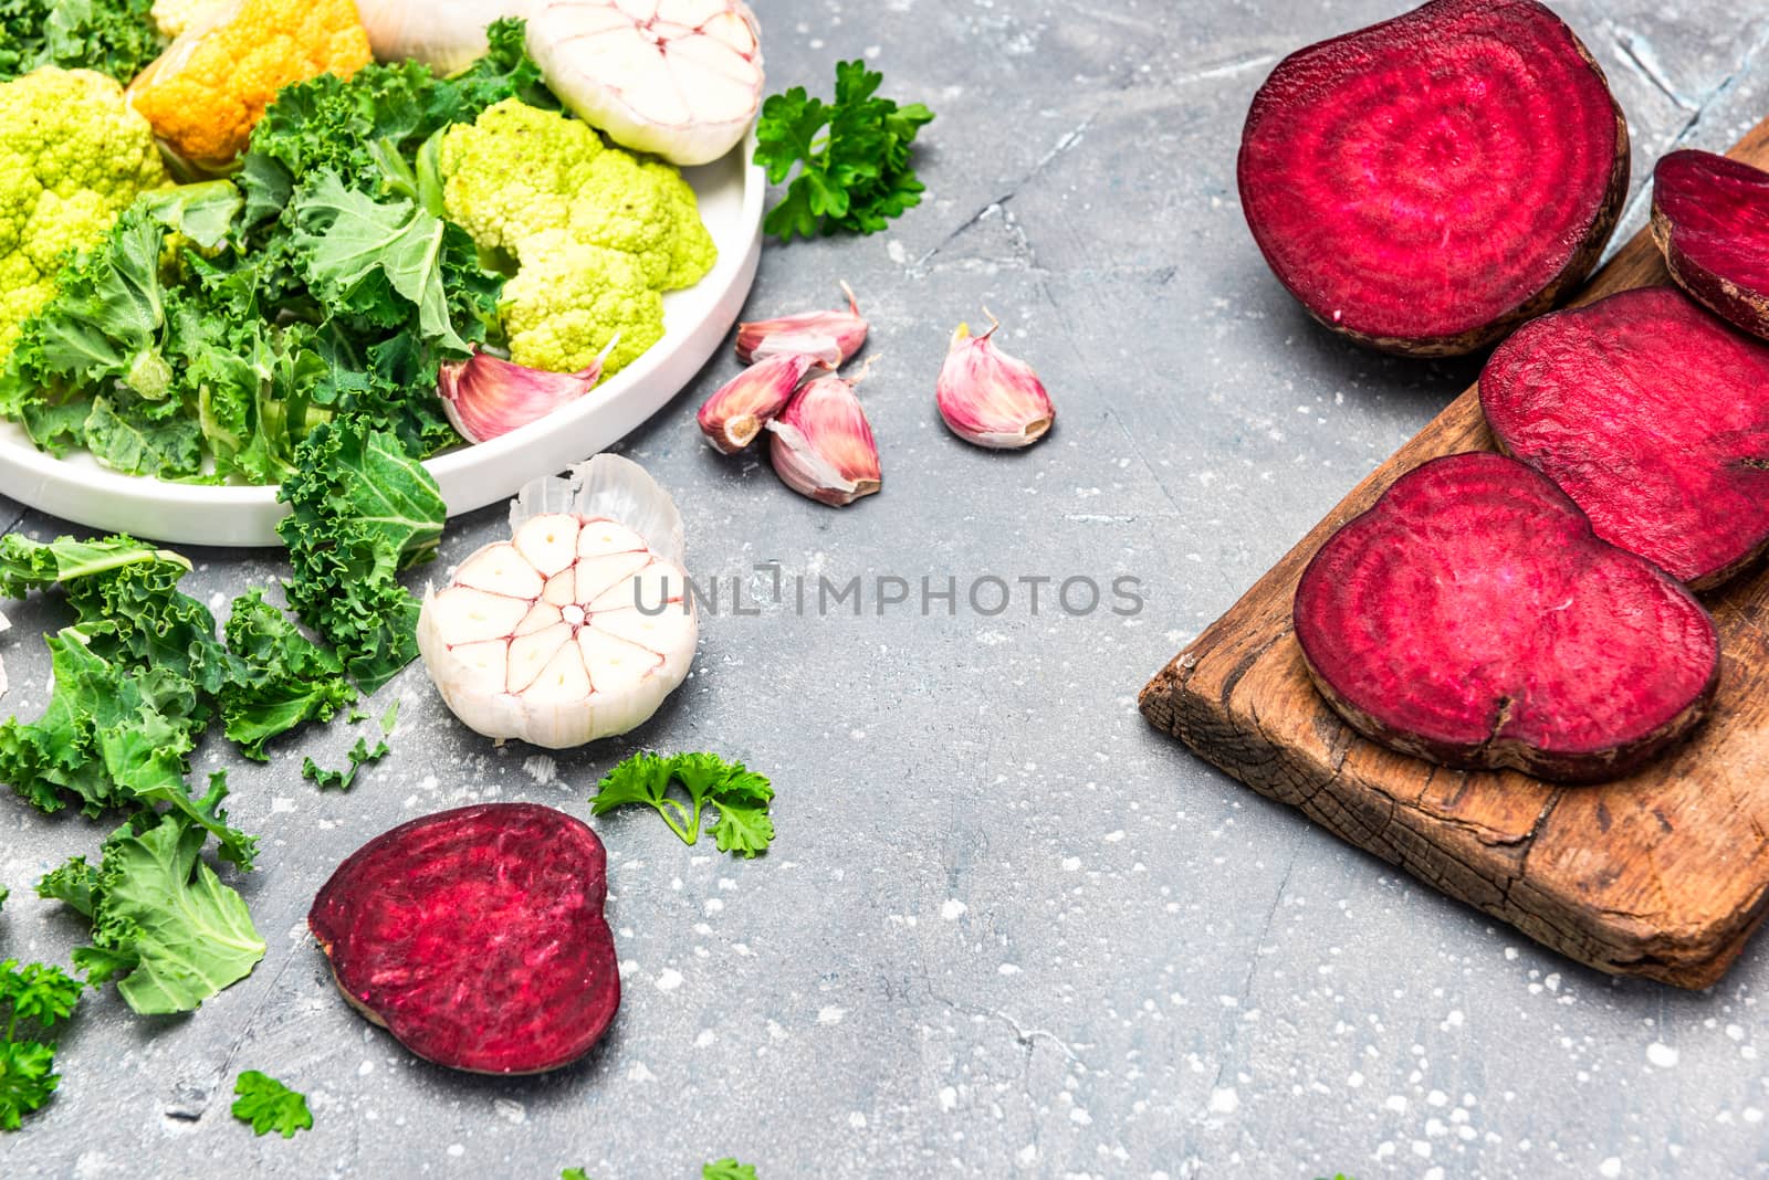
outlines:
[{"label": "grey speckled concrete tabletop surface beneath the vegetables", "polygon": [[[860,291],[886,357],[865,387],[884,493],[833,512],[764,463],[713,456],[692,415],[734,371],[720,359],[624,447],[676,493],[692,567],[1129,574],[1146,608],[709,618],[651,724],[555,763],[465,733],[412,668],[384,692],[403,701],[394,753],[354,793],[297,775],[304,753],[340,760],[341,728],[237,768],[235,816],[265,837],[242,883],[271,940],[258,972],[189,1019],[92,1002],[60,1097],[0,1138],[0,1173],[685,1180],[718,1155],[768,1180],[1769,1173],[1762,945],[1704,995],[1594,975],[1251,795],[1134,710],[1155,668],[1472,374],[1316,330],[1235,198],[1270,65],[1403,5],[759,7],[775,87],[826,87],[865,53],[890,94],[939,111],[930,196],[869,240],[770,247],[750,302]],[[1769,113],[1769,16],[1741,16],[1755,5],[1557,7],[1627,111],[1636,193],[1670,145],[1718,148]],[[1022,456],[964,447],[934,412],[946,334],[984,302],[1061,410]],[[4,507],[32,535],[64,530]],[[444,564],[501,530],[499,511],[455,521]],[[203,594],[283,572],[272,551],[195,556]],[[7,609],[5,708],[35,715],[35,632],[57,608]],[[596,777],[640,745],[766,770],[780,837],[732,862],[649,814],[596,821],[626,1000],[591,1060],[455,1076],[340,1002],[302,917],[343,855],[463,800],[587,816]],[[65,957],[78,929],[28,885],[103,830],[0,807],[0,952]],[[310,1092],[315,1129],[253,1139],[226,1109],[242,1069]]]}]

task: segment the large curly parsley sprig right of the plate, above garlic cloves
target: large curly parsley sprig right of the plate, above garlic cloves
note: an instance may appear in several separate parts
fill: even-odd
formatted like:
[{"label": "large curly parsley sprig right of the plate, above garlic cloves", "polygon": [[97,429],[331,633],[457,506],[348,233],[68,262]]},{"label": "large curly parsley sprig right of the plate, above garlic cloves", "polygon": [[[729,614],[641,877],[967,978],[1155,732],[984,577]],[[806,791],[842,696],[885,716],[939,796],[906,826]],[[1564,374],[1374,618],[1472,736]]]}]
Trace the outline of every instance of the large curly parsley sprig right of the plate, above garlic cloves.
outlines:
[{"label": "large curly parsley sprig right of the plate, above garlic cloves", "polygon": [[782,242],[796,233],[877,233],[922,203],[925,185],[909,166],[909,150],[934,111],[877,97],[883,81],[862,60],[837,62],[833,102],[810,97],[805,87],[762,102],[755,163],[773,184],[798,170],[762,230]]}]

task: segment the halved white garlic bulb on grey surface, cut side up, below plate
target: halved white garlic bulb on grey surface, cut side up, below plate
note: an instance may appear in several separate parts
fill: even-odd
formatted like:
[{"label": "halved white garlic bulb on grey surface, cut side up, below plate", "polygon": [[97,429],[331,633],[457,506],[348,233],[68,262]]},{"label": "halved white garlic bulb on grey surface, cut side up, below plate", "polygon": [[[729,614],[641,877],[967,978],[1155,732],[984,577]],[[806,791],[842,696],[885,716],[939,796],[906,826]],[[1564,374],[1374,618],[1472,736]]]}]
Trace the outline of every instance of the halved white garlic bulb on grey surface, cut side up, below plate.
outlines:
[{"label": "halved white garlic bulb on grey surface, cut side up, below plate", "polygon": [[455,715],[548,749],[642,724],[688,675],[697,639],[681,518],[619,456],[524,488],[511,539],[462,562],[417,616],[425,668]]}]

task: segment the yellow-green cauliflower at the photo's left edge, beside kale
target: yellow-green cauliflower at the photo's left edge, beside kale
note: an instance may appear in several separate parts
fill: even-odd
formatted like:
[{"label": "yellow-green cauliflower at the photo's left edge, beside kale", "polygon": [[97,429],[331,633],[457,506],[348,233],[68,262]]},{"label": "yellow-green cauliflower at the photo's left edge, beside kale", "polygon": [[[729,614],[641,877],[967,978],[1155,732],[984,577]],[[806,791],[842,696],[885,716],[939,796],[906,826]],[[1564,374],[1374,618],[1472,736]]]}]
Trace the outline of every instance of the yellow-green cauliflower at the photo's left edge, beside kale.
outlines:
[{"label": "yellow-green cauliflower at the photo's left edge, beside kale", "polygon": [[65,256],[165,184],[154,131],[115,79],[50,65],[0,83],[0,360]]}]

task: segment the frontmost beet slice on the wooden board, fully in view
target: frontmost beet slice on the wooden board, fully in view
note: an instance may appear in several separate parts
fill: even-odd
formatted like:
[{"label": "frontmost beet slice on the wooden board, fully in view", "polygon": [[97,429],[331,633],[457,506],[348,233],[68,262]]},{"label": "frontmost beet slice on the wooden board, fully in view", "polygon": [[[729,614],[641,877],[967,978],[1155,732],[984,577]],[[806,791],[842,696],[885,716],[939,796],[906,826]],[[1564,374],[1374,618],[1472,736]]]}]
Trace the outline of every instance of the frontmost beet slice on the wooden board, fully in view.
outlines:
[{"label": "frontmost beet slice on the wooden board, fully in view", "polygon": [[1719,673],[1700,602],[1498,454],[1433,459],[1321,546],[1295,601],[1316,685],[1451,767],[1599,781],[1693,726]]}]

